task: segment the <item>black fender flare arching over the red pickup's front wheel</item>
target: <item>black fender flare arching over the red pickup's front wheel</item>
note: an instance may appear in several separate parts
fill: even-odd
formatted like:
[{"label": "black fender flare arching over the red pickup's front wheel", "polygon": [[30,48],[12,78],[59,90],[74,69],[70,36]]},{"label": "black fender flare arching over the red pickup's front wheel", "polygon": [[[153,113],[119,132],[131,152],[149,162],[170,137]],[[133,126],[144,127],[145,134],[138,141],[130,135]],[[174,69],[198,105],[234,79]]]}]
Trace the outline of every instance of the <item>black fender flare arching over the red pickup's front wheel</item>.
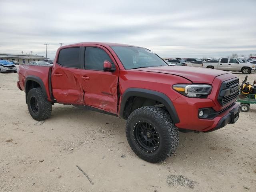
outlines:
[{"label": "black fender flare arching over the red pickup's front wheel", "polygon": [[124,108],[125,108],[128,98],[130,98],[131,96],[144,97],[144,98],[156,100],[156,101],[162,103],[168,110],[173,122],[175,124],[180,122],[180,119],[178,117],[176,109],[175,109],[174,105],[172,104],[172,101],[166,94],[163,94],[158,91],[142,89],[142,88],[128,88],[127,90],[125,90],[124,94],[122,95],[122,100],[121,100],[121,107],[120,107],[120,117],[121,118],[124,118]]}]

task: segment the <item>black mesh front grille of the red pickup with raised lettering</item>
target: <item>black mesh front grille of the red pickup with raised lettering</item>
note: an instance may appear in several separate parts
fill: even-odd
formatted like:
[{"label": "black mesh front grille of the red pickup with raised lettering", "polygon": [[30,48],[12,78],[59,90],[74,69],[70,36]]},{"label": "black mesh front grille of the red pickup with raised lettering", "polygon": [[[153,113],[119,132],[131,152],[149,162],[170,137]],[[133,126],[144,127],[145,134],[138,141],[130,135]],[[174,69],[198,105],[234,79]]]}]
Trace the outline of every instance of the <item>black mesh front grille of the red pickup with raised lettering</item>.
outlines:
[{"label": "black mesh front grille of the red pickup with raised lettering", "polygon": [[222,82],[220,86],[220,93],[218,96],[218,102],[221,104],[221,106],[225,106],[238,98],[239,87],[238,87],[238,90],[230,94],[230,88],[236,85],[238,86],[238,84],[239,84],[238,78]]}]

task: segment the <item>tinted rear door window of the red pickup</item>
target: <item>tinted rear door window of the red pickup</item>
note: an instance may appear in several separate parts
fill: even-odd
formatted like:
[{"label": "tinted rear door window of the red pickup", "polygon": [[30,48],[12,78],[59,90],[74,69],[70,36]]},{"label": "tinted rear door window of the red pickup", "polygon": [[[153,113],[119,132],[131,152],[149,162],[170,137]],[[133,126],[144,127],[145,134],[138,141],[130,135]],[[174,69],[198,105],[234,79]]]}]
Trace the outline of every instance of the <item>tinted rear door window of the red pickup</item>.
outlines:
[{"label": "tinted rear door window of the red pickup", "polygon": [[80,68],[79,47],[65,48],[60,50],[58,64],[64,67]]}]

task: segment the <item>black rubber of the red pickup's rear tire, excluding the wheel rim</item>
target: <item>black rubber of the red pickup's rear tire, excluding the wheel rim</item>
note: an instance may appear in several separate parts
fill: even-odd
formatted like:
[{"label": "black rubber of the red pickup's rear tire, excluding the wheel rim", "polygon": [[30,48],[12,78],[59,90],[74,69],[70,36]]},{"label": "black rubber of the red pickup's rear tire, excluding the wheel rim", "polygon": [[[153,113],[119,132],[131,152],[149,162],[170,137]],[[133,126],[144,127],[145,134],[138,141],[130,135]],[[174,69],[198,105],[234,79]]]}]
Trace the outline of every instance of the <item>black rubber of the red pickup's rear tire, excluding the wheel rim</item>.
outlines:
[{"label": "black rubber of the red pickup's rear tire, excluding the wheel rim", "polygon": [[[33,110],[32,100],[37,101],[38,111]],[[41,88],[30,89],[27,96],[28,111],[32,118],[37,121],[45,120],[52,114],[52,103],[47,100]]]}]

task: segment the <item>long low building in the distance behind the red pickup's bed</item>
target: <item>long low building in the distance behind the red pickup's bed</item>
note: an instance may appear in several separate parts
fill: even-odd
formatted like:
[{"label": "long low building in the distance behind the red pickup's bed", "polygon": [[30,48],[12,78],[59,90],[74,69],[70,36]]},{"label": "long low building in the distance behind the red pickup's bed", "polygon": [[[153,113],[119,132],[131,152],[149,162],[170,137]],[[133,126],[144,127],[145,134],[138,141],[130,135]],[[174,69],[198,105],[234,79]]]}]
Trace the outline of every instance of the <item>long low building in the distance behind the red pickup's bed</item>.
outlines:
[{"label": "long low building in the distance behind the red pickup's bed", "polygon": [[28,64],[32,61],[39,61],[40,59],[49,59],[41,55],[32,54],[3,54],[0,53],[0,60],[18,61],[20,64]]}]

